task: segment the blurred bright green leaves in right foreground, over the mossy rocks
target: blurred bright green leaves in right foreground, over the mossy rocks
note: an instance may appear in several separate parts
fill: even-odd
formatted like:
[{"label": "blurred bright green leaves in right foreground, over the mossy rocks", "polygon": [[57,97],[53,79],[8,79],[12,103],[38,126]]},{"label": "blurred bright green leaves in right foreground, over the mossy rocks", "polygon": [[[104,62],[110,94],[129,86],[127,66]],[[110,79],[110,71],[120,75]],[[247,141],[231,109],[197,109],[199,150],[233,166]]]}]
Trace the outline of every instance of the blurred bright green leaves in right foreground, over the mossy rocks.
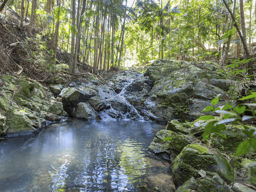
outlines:
[{"label": "blurred bright green leaves in right foreground, over the mossy rocks", "polygon": [[[239,100],[248,100],[248,99],[252,99],[255,98],[256,93],[252,92],[250,95],[245,96]],[[217,105],[217,103],[219,102],[219,98],[214,98],[212,99],[211,103],[212,105]],[[236,107],[232,107],[231,105],[224,105],[224,106],[220,106],[217,108],[214,108],[214,106],[207,106],[204,111],[212,111],[215,113],[218,113],[222,116],[222,118],[220,119],[215,119],[214,116],[202,116],[199,119],[201,120],[209,120],[209,119],[215,119],[214,121],[211,122],[205,122],[204,124],[204,133],[203,133],[203,139],[204,141],[207,140],[207,138],[212,134],[218,134],[223,138],[227,138],[227,135],[232,136],[232,135],[239,135],[235,132],[235,130],[233,131],[228,131],[226,129],[226,125],[227,124],[238,124],[238,125],[242,125],[244,127],[244,130],[242,131],[244,133],[244,140],[238,145],[237,149],[236,149],[236,156],[242,156],[244,154],[246,154],[249,149],[252,147],[254,150],[256,150],[256,137],[255,137],[255,130],[254,129],[250,129],[250,127],[246,126],[246,124],[244,124],[245,120],[248,120],[250,118],[254,118],[254,116],[245,116],[243,115],[243,113],[245,111],[250,111],[252,114],[255,114],[256,111],[253,108],[250,108],[251,106],[256,106],[256,103],[245,103],[245,104],[239,104]],[[249,107],[249,109],[246,109],[246,107]],[[227,111],[230,110],[231,111]],[[241,136],[241,135],[240,135]],[[223,175],[230,181],[234,181],[234,175],[233,172],[231,172],[230,166],[227,162],[227,160],[219,155],[219,154],[215,154],[214,158],[221,170],[221,172],[223,173]]]}]

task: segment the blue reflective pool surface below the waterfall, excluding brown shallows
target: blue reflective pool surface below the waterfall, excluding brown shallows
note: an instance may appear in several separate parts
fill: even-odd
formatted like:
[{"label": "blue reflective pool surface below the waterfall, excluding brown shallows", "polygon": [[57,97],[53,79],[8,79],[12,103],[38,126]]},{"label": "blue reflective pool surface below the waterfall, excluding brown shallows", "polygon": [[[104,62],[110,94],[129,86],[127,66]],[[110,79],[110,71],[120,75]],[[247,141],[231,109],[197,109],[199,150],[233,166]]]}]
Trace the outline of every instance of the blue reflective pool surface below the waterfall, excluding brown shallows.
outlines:
[{"label": "blue reflective pool surface below the waterfall, excluding brown shallows", "polygon": [[[0,142],[1,191],[137,191],[145,150],[164,125],[76,121]],[[2,182],[3,181],[3,182]]]}]

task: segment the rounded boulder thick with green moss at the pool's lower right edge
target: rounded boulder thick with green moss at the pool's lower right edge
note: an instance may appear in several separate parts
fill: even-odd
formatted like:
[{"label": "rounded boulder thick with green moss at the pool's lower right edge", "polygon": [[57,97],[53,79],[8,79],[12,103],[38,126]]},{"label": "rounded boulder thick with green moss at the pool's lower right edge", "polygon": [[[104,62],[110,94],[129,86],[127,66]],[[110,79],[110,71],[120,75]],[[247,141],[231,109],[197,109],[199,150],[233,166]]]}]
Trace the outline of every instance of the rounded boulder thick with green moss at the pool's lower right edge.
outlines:
[{"label": "rounded boulder thick with green moss at the pool's lower right edge", "polygon": [[198,143],[187,145],[173,162],[173,181],[176,186],[181,186],[191,177],[200,177],[198,172],[203,169],[209,172],[218,171],[218,166],[213,153]]}]

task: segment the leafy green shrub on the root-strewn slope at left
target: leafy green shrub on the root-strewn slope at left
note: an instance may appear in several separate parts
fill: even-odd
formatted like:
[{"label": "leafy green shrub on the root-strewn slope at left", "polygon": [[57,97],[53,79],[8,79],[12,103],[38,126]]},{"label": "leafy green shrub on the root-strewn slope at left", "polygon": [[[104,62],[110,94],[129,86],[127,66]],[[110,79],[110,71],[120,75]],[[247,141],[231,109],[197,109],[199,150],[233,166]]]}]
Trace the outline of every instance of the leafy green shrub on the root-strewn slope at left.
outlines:
[{"label": "leafy green shrub on the root-strewn slope at left", "polygon": [[26,60],[33,64],[37,70],[46,70],[49,72],[58,72],[68,68],[65,64],[55,64],[52,49],[47,49],[47,42],[42,40],[47,31],[42,34],[36,34],[35,38],[27,38],[26,43],[22,45],[23,51],[28,53]]}]

